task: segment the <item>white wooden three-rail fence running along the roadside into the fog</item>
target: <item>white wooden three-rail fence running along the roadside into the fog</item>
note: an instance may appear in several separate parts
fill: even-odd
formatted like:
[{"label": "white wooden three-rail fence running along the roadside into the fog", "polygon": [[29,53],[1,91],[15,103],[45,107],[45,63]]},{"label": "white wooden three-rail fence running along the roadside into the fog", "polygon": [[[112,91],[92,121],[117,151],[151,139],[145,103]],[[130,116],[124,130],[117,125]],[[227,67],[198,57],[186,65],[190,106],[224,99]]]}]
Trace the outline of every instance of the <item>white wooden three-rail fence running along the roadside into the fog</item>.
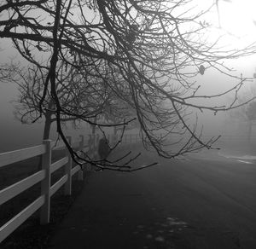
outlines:
[{"label": "white wooden three-rail fence running along the roadside into the fog", "polygon": [[[72,144],[73,148],[77,150],[96,152],[96,144],[98,142],[99,136],[90,136],[90,139],[84,143],[84,136],[80,136],[81,140],[79,142],[72,143],[71,137],[68,137],[69,142]],[[114,137],[111,138],[113,142]],[[135,139],[134,139],[135,138]],[[137,135],[125,135],[123,142],[136,142]],[[13,199],[16,195],[24,192],[26,189],[31,188],[38,182],[41,182],[41,195],[38,199],[34,200],[29,206],[20,211],[15,217],[11,218],[9,222],[3,224],[0,228],[0,243],[9,236],[15,229],[17,229],[20,224],[24,223],[27,218],[31,217],[35,211],[40,209],[40,223],[49,223],[50,214],[50,198],[56,191],[58,191],[62,185],[64,185],[65,194],[72,194],[72,177],[74,174],[79,174],[79,180],[83,180],[83,171],[79,165],[72,165],[72,159],[68,152],[66,156],[51,162],[52,151],[55,149],[65,148],[64,144],[55,145],[55,142],[50,140],[44,140],[43,144],[32,147],[23,148],[7,153],[0,153],[0,167],[8,166],[10,164],[20,162],[24,159],[30,159],[36,156],[42,156],[42,169],[34,173],[33,175],[22,179],[20,182],[15,182],[7,188],[3,188],[0,191],[0,206]],[[66,149],[67,150],[67,149]],[[64,176],[62,176],[55,184],[51,185],[50,178],[51,174],[61,167],[65,167]]]}]

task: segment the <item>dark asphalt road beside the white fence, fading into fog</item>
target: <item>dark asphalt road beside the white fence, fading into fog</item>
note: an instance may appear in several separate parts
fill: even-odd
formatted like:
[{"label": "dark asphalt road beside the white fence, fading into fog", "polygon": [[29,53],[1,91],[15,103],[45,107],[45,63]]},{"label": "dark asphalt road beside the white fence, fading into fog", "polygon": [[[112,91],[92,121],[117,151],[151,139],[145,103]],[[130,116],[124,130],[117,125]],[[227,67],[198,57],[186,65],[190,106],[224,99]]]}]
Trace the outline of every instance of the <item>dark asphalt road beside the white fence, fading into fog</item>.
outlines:
[{"label": "dark asphalt road beside the white fence, fading into fog", "polygon": [[183,160],[147,153],[133,173],[101,171],[50,248],[256,248],[256,164],[218,153]]}]

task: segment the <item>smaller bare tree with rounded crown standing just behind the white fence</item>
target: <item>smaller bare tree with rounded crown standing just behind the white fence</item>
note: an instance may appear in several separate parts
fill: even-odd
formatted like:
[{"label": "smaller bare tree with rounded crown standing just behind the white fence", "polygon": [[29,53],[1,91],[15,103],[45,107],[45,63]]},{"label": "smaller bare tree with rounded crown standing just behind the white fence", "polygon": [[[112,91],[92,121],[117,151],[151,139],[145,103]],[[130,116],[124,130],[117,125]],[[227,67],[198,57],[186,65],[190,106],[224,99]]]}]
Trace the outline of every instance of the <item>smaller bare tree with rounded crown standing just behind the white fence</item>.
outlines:
[{"label": "smaller bare tree with rounded crown standing just behind the white fence", "polygon": [[[19,96],[15,101],[15,117],[20,119],[22,124],[32,124],[43,116],[43,139],[49,139],[50,127],[56,122],[55,101],[50,96],[49,90],[44,98],[42,110],[40,103],[44,94],[47,71],[37,66],[21,67],[20,64],[5,65],[3,68],[3,72],[0,72],[2,80],[18,85]],[[100,85],[92,85],[82,74],[78,74],[75,68],[67,68],[62,63],[57,69],[56,91],[60,96],[61,106],[66,112],[74,115],[61,113],[61,122],[64,124],[67,121],[79,121],[79,115],[91,119],[102,113],[102,107],[108,96],[104,88],[100,89]]]}]

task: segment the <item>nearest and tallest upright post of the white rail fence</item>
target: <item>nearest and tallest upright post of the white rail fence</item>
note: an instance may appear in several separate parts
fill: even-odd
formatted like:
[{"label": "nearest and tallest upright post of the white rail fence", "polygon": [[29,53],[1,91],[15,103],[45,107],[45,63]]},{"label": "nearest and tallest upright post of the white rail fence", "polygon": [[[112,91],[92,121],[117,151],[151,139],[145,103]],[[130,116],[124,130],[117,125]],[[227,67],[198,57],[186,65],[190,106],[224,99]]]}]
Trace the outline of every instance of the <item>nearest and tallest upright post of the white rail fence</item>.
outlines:
[{"label": "nearest and tallest upright post of the white rail fence", "polygon": [[41,194],[44,195],[44,205],[40,209],[40,223],[49,223],[49,209],[50,209],[50,164],[51,164],[51,148],[50,140],[44,140],[46,152],[42,155],[42,170],[45,171],[45,177],[41,182]]}]

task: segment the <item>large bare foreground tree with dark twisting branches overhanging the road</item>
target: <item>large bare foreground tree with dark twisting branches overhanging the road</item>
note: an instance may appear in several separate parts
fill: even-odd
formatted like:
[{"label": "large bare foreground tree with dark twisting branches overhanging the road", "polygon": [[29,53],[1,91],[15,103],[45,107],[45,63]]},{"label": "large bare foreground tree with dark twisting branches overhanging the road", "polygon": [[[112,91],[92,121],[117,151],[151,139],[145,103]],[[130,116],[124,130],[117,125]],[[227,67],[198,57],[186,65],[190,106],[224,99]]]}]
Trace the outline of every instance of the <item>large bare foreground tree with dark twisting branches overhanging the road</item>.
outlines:
[{"label": "large bare foreground tree with dark twisting branches overhanging the road", "polygon": [[[197,127],[197,119],[191,115],[204,110],[217,113],[241,105],[237,102],[237,92],[244,80],[232,75],[224,59],[251,55],[255,46],[222,49],[218,47],[218,39],[208,41],[205,35],[210,26],[202,20],[209,9],[195,13],[189,10],[192,3],[188,0],[5,0],[0,5],[0,14],[6,17],[0,20],[0,38],[11,38],[20,55],[48,70],[38,103],[39,113],[44,112],[49,90],[57,131],[79,164],[90,161],[99,168],[131,171],[130,165],[116,162],[101,165],[92,159],[82,159],[69,146],[61,129],[61,115],[85,122],[91,119],[62,105],[56,87],[58,61],[76,68],[81,75],[101,80],[106,90],[112,90],[125,101],[136,113],[144,145],[153,147],[161,156],[173,158],[212,148],[218,137],[202,141],[201,127]],[[44,61],[38,60],[38,54]],[[233,77],[236,85],[218,95],[198,94],[200,86],[194,78],[209,67]],[[96,80],[93,82],[97,84]],[[226,105],[203,104],[205,99],[232,91],[234,99]],[[127,121],[116,125],[125,127]],[[168,147],[166,137],[172,137]]]}]

